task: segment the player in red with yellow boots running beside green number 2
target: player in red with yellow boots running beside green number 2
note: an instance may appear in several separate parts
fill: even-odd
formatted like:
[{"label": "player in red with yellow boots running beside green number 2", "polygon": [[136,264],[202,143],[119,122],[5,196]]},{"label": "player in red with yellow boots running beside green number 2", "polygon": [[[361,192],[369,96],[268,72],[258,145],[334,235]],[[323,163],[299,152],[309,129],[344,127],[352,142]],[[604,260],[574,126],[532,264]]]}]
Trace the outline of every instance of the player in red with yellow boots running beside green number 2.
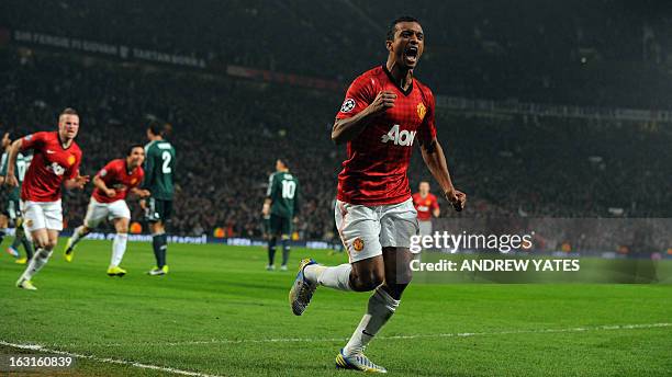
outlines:
[{"label": "player in red with yellow boots running beside green number 2", "polygon": [[108,267],[108,275],[121,277],[126,274],[126,271],[119,266],[126,252],[128,222],[131,221],[131,210],[128,210],[125,198],[128,194],[138,197],[149,196],[147,190],[137,188],[145,176],[142,168],[144,161],[145,147],[139,144],[134,145],[128,148],[125,159],[110,161],[96,174],[93,178],[96,190],[91,195],[85,224],[75,229],[72,237],[66,243],[66,261],[72,261],[75,245],[79,240],[96,229],[100,221],[111,218],[116,236],[112,241],[112,260]]}]

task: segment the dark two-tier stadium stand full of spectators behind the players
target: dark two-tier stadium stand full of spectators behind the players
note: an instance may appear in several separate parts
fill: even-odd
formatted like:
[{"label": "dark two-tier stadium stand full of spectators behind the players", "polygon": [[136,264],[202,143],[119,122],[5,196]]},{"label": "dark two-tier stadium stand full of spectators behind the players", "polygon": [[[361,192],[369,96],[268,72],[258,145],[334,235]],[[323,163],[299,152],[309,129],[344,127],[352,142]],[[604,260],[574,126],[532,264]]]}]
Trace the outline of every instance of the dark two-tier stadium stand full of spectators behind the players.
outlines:
[{"label": "dark two-tier stadium stand full of spectators behind the players", "polygon": [[[154,48],[202,57],[208,69],[125,61],[9,37],[0,47],[0,128],[12,136],[48,129],[59,110],[74,106],[82,114],[82,168],[93,174],[125,146],[144,141],[149,118],[171,124],[179,171],[171,231],[178,235],[224,228],[226,236],[260,237],[267,176],[282,156],[303,186],[300,237],[331,239],[345,148],[331,142],[329,128],[343,90],[234,79],[217,68],[299,73],[343,87],[381,61],[384,25],[394,14],[377,1],[338,7],[280,1],[278,9],[261,3],[211,1],[212,11],[203,12],[156,1],[93,7],[63,0],[40,9],[4,2],[0,26],[10,34],[23,30]],[[390,9],[404,9],[401,1],[392,3],[399,7]],[[428,11],[417,14],[428,35],[418,77],[446,95],[665,108],[672,99],[664,90],[670,77],[661,46],[672,36],[671,20],[645,9],[618,12],[614,1],[590,9],[575,3],[585,12],[567,19],[558,15],[567,11],[562,7],[522,5],[517,11],[538,22],[515,24],[511,7],[433,3],[453,9],[456,16],[447,22]],[[495,12],[505,12],[496,23],[490,21]],[[55,14],[63,22],[53,22]],[[359,21],[340,22],[352,18]],[[550,24],[557,25],[552,33],[545,28]],[[620,27],[632,24],[641,27]],[[272,32],[279,28],[282,37],[295,36],[290,48]],[[438,111],[437,124],[457,185],[470,194],[468,209],[451,216],[672,215],[669,124],[446,110]],[[414,188],[429,178],[419,153],[410,175]],[[68,194],[68,224],[81,220],[89,193],[90,187]]]}]

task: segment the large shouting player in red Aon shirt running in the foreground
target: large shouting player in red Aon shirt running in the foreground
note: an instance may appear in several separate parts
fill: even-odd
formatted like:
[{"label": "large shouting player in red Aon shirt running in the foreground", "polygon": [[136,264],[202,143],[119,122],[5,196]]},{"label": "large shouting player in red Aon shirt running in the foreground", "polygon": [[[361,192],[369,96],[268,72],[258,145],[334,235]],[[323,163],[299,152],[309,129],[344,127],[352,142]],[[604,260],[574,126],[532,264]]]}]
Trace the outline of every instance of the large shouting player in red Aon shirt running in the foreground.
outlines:
[{"label": "large shouting player in red Aon shirt running in the foreground", "polygon": [[415,139],[423,159],[457,210],[467,196],[455,190],[434,125],[434,95],[414,79],[424,49],[417,20],[404,16],[388,32],[388,61],[358,77],[346,94],[332,139],[347,142],[338,175],[336,222],[349,264],[326,267],[303,260],[290,292],[300,316],[317,285],[376,290],[355,333],[336,357],[341,368],[385,373],[363,355],[369,341],[394,313],[411,281],[411,237],[418,231],[406,171]]}]

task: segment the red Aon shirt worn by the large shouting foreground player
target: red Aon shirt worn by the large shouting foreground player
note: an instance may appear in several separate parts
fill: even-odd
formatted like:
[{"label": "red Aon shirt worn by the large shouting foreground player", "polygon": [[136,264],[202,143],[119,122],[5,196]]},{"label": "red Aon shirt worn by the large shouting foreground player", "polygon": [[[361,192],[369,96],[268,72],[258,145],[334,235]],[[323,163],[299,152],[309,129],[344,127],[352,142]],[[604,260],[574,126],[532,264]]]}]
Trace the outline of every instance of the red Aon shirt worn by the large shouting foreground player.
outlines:
[{"label": "red Aon shirt worn by the large shouting foreground player", "polygon": [[341,202],[362,205],[402,203],[411,197],[408,161],[415,139],[428,142],[436,137],[434,94],[413,79],[405,92],[396,85],[387,67],[376,67],[350,84],[336,115],[347,118],[365,110],[382,90],[396,93],[394,107],[372,121],[347,144],[347,160],[338,174]]}]

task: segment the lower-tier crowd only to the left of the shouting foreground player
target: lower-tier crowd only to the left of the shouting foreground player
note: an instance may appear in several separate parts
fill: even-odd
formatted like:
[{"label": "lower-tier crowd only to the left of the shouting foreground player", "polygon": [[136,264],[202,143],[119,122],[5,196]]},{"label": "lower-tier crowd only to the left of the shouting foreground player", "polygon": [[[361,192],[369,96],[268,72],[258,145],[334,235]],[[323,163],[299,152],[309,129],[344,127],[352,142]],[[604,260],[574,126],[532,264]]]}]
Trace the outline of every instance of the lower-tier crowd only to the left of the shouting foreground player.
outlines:
[{"label": "lower-tier crowd only to the left of the shouting foreground player", "polygon": [[[324,169],[335,173],[338,159],[323,151],[333,149],[327,123],[337,105],[329,108],[320,94],[104,62],[66,64],[66,58],[4,54],[1,61],[2,130],[16,137],[53,129],[58,108],[76,107],[85,173],[122,157],[128,145],[145,142],[149,118],[171,124],[169,140],[178,152],[176,233],[224,227],[232,236],[260,236],[265,185],[279,157],[291,168],[295,161],[302,182],[302,232],[315,238],[326,227],[321,219],[328,218],[331,198],[323,193],[333,188],[333,174]],[[310,116],[317,108],[324,110],[322,121]],[[81,221],[90,190],[66,196],[68,224]]]}]

